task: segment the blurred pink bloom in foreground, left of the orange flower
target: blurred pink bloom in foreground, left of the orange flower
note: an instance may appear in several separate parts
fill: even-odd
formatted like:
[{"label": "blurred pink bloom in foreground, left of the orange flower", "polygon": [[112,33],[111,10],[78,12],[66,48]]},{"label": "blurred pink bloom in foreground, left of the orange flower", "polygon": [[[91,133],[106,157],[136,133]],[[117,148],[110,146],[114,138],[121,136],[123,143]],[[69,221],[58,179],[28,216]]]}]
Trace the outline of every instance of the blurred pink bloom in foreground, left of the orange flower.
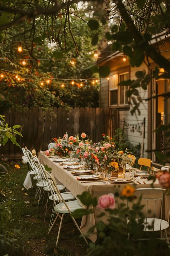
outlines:
[{"label": "blurred pink bloom in foreground, left of the orange flower", "polygon": [[114,194],[109,193],[107,195],[103,195],[99,197],[98,200],[98,208],[109,208],[109,209],[114,209],[115,208],[115,199],[114,199]]}]

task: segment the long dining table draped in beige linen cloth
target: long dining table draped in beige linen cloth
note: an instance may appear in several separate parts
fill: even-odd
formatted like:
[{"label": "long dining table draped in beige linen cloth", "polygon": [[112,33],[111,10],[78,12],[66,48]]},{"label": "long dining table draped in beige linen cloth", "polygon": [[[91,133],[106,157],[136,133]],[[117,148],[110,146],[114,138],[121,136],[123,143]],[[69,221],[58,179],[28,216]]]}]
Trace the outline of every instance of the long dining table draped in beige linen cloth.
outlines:
[{"label": "long dining table draped in beige linen cloth", "polygon": [[[42,151],[38,154],[39,161],[43,165],[47,165],[48,167],[51,167],[51,172],[53,176],[57,180],[57,184],[63,184],[69,190],[79,201],[79,198],[77,198],[77,195],[81,194],[84,191],[88,191],[92,196],[97,197],[97,199],[102,196],[103,194],[113,193],[115,189],[115,184],[107,184],[105,185],[103,183],[103,180],[101,182],[96,181],[89,181],[87,183],[83,183],[82,181],[76,179],[76,176],[71,174],[71,171],[68,169],[64,169],[60,163],[55,162],[54,158],[50,158],[49,156],[46,156]],[[143,183],[144,181],[144,183]],[[137,183],[137,188],[149,188],[151,187],[152,181],[147,179],[140,179],[140,183]],[[128,183],[129,184],[129,183]],[[125,184],[119,184],[120,189],[122,189]],[[159,181],[156,180],[154,183],[155,188],[160,188]],[[147,192],[148,193],[148,192]],[[79,201],[79,203],[82,205],[82,203]],[[82,207],[85,207],[82,205]],[[159,210],[157,210],[157,215],[159,215]],[[89,230],[89,228],[99,220],[98,215],[100,214],[101,209],[95,208],[93,214],[84,215],[82,216],[81,226],[80,229],[82,233],[86,234]],[[164,197],[164,206],[163,206],[163,217],[166,221],[169,221],[170,219],[170,196]],[[107,217],[105,218],[105,221],[107,220]],[[167,235],[170,239],[170,228],[167,229]],[[94,233],[89,235],[88,237],[92,242],[95,242],[97,239],[97,230],[94,230]]]}]

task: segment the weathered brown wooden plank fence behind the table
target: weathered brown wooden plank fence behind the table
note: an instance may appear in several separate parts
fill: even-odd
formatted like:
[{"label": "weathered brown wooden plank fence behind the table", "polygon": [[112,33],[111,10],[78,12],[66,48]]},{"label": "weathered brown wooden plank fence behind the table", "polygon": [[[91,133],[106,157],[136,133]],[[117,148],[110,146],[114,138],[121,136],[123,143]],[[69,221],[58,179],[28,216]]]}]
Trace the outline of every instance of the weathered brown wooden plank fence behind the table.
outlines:
[{"label": "weathered brown wooden plank fence behind the table", "polygon": [[[54,108],[52,113],[33,107],[28,113],[11,110],[3,114],[10,126],[21,125],[23,138],[16,136],[21,147],[35,148],[36,152],[46,150],[52,138],[62,137],[66,132],[69,136],[84,132],[93,142],[99,142],[101,134],[113,136],[118,126],[118,113],[111,108]],[[0,154],[20,159],[22,150],[9,142],[0,147]]]}]

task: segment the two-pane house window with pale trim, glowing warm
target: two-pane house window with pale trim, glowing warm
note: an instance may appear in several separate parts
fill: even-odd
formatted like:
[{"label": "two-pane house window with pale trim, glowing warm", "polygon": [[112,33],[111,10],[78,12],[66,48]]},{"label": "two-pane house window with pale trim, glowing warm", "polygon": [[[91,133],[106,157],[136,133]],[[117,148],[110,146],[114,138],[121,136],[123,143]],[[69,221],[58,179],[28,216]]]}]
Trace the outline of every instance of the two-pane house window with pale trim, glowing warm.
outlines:
[{"label": "two-pane house window with pale trim, glowing warm", "polygon": [[118,86],[119,82],[129,79],[129,72],[115,74],[109,77],[109,105],[127,105],[128,98],[126,96],[128,86]]}]

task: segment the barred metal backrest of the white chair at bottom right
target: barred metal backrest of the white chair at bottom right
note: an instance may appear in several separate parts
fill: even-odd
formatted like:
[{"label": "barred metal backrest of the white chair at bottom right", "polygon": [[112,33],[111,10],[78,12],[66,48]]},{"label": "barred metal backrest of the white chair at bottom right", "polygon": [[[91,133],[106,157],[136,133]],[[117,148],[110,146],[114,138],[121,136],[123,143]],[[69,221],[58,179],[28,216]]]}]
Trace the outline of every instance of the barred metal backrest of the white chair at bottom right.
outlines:
[{"label": "barred metal backrest of the white chair at bottom right", "polygon": [[[150,214],[152,214],[153,222],[151,231],[154,232],[154,223],[155,223],[155,216],[156,211],[159,210],[159,219],[160,221],[160,231],[161,231],[161,223],[162,223],[162,208],[163,208],[163,198],[164,198],[164,192],[165,189],[163,188],[137,188],[136,192],[139,192],[139,196],[142,195],[142,201],[145,201],[145,232],[147,229],[147,218],[149,218]],[[159,202],[159,206],[158,203]],[[150,208],[152,208],[152,212],[150,213]],[[160,208],[158,208],[160,207]]]}]

